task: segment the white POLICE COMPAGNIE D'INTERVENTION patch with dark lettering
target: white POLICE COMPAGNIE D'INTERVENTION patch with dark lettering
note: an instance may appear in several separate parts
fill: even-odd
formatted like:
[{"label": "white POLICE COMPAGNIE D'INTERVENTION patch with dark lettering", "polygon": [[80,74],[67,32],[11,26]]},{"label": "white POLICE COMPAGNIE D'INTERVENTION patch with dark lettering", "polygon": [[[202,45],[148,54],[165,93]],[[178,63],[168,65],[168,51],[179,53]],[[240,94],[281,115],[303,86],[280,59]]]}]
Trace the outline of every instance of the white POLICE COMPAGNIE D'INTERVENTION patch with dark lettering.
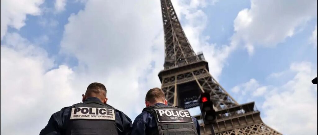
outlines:
[{"label": "white POLICE COMPAGNIE D'INTERVENTION patch with dark lettering", "polygon": [[70,119],[115,120],[115,111],[113,109],[93,107],[72,108]]}]

